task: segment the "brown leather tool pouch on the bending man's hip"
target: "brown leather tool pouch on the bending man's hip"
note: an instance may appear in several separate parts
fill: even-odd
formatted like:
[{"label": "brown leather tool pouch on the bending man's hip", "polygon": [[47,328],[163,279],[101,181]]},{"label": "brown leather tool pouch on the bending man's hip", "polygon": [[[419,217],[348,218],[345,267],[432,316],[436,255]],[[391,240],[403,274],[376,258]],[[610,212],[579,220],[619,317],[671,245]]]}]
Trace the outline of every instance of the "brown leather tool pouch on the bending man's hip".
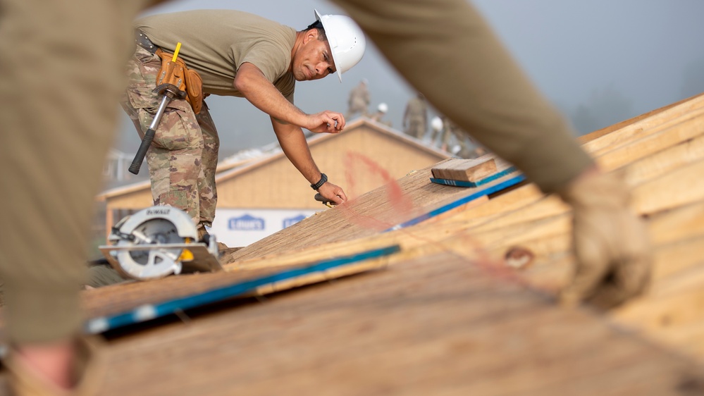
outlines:
[{"label": "brown leather tool pouch on the bending man's hip", "polygon": [[186,101],[191,105],[194,113],[200,113],[203,107],[203,80],[195,70],[186,67],[180,58],[173,62],[173,54],[156,50],[156,55],[161,58],[161,69],[156,75],[156,85],[173,84],[178,89],[186,92]]}]

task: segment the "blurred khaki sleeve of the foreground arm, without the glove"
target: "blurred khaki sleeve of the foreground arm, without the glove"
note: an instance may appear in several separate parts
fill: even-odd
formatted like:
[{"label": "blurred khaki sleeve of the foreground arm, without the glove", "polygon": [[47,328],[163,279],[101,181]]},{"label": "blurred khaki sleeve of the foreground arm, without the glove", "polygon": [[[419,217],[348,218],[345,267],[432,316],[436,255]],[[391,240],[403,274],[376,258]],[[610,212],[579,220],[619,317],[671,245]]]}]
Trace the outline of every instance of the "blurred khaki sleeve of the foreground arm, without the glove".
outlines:
[{"label": "blurred khaki sleeve of the foreground arm, without the glove", "polygon": [[402,75],[544,191],[593,161],[467,0],[333,0]]}]

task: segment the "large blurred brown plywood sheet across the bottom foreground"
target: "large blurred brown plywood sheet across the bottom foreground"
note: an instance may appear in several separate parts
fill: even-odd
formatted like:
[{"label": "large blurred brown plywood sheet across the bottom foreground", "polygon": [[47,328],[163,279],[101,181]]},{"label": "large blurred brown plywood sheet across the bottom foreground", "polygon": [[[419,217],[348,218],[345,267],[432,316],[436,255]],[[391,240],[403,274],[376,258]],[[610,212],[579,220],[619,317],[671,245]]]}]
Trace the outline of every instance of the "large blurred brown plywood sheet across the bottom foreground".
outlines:
[{"label": "large blurred brown plywood sheet across the bottom foreground", "polygon": [[691,361],[452,254],[111,341],[100,395],[699,395]]}]

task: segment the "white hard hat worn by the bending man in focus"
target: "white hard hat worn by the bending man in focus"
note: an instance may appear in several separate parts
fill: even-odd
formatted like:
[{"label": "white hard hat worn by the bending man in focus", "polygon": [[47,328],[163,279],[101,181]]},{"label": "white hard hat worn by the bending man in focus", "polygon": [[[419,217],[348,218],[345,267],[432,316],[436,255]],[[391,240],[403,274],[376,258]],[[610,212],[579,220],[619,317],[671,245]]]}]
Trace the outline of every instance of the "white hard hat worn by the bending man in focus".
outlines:
[{"label": "white hard hat worn by the bending man in focus", "polygon": [[333,51],[333,63],[342,82],[342,73],[359,63],[366,49],[366,37],[362,29],[349,16],[323,15],[315,11],[315,18],[323,24],[328,44]]}]

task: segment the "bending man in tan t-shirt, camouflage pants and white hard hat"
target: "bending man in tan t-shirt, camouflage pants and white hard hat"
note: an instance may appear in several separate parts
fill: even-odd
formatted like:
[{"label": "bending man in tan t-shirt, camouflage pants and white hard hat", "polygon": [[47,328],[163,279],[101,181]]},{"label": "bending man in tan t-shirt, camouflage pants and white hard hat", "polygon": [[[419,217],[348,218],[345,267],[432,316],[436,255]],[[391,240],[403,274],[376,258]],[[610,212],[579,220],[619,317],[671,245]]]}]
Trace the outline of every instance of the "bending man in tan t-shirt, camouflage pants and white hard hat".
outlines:
[{"label": "bending man in tan t-shirt, camouflage pants and white hard hat", "polygon": [[[293,104],[297,81],[318,80],[354,66],[364,54],[362,30],[347,16],[321,16],[297,32],[259,16],[233,10],[165,13],[137,20],[137,46],[129,63],[130,84],[123,107],[137,130],[145,132],[159,107],[152,92],[161,58],[159,47],[199,73],[204,94],[245,97],[271,116],[288,159],[312,188],[335,204],[347,200],[327,181],[311,157],[302,128],[338,133],[345,118],[336,111],[307,114]],[[141,35],[141,36],[140,36]],[[331,48],[328,37],[335,47]],[[206,233],[215,217],[215,170],[219,139],[208,107],[194,113],[185,100],[171,101],[147,152],[154,204],[183,209]]]}]

